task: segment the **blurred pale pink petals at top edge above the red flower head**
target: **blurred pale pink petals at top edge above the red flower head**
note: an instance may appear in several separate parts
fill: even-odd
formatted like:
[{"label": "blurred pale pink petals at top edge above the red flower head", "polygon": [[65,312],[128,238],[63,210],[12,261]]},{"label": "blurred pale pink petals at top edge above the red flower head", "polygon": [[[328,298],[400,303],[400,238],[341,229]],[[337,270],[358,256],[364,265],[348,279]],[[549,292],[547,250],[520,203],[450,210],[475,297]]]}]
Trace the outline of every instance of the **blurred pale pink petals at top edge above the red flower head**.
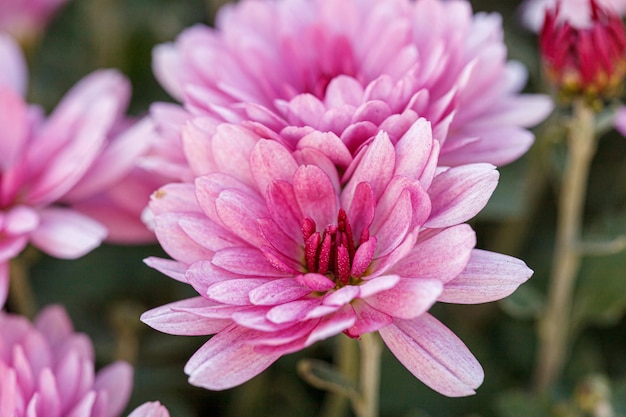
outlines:
[{"label": "blurred pale pink petals at top edge above the red flower head", "polygon": [[[601,7],[619,15],[626,14],[626,0],[596,0]],[[589,0],[526,0],[521,5],[521,19],[524,26],[533,32],[539,32],[546,17],[546,11],[560,3],[559,21],[569,22],[576,29],[591,26]]]}]

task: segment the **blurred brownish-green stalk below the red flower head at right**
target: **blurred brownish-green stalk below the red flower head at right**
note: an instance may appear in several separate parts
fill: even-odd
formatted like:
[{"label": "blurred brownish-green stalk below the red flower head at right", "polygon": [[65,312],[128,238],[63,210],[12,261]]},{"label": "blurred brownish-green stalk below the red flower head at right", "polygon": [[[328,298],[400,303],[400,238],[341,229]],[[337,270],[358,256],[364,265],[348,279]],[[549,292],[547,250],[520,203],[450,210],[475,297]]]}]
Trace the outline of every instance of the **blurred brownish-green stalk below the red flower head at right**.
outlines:
[{"label": "blurred brownish-green stalk below the red flower head at right", "polygon": [[565,172],[559,196],[556,245],[546,311],[539,323],[535,388],[547,392],[559,378],[570,338],[572,295],[580,267],[578,250],[589,166],[596,149],[594,112],[574,103]]}]

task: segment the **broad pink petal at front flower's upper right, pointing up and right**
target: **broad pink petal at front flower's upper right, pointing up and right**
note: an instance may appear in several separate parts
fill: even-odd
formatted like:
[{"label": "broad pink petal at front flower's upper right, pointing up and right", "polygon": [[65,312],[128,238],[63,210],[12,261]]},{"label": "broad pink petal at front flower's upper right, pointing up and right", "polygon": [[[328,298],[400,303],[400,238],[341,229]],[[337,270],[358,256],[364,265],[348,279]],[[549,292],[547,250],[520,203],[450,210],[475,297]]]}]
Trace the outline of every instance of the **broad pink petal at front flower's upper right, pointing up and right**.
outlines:
[{"label": "broad pink petal at front flower's upper right, pointing up and right", "polygon": [[489,164],[464,165],[437,175],[428,189],[432,211],[425,226],[453,226],[474,217],[489,201],[498,176]]}]

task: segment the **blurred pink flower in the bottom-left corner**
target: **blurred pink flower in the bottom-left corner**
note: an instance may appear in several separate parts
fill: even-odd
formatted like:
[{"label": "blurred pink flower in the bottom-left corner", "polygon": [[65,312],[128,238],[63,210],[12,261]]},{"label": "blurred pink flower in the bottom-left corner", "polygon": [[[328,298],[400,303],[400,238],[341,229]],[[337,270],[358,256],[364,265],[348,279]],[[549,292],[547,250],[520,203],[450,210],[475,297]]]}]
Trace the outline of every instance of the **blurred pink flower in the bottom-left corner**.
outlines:
[{"label": "blurred pink flower in the bottom-left corner", "polygon": [[74,333],[62,307],[34,323],[0,311],[0,417],[117,417],[132,388],[132,368],[98,373],[87,336]]}]

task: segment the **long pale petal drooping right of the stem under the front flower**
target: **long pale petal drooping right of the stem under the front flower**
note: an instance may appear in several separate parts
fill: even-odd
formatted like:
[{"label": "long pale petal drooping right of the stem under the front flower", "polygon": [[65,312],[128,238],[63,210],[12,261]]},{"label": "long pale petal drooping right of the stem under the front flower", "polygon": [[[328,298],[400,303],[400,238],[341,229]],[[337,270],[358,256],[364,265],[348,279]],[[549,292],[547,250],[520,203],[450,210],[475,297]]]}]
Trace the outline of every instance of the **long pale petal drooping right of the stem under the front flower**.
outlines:
[{"label": "long pale petal drooping right of the stem under the front flower", "polygon": [[395,319],[379,330],[385,344],[420,381],[448,397],[475,394],[483,382],[480,364],[450,329],[429,314]]}]

